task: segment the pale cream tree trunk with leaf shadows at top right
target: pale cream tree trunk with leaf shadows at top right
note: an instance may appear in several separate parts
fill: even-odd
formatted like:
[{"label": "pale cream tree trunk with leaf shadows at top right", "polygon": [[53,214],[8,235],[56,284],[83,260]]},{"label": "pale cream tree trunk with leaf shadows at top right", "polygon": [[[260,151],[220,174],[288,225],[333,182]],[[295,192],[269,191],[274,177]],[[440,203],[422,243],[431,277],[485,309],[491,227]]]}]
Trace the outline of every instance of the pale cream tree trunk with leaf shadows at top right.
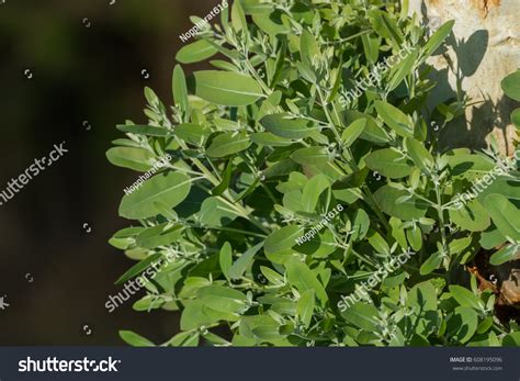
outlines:
[{"label": "pale cream tree trunk with leaf shadows at top right", "polygon": [[517,133],[510,114],[518,103],[500,81],[520,68],[520,0],[409,0],[409,11],[433,26],[455,20],[455,38],[430,59],[439,82],[430,108],[455,97],[457,83],[476,103],[446,127],[441,144],[483,148],[493,134],[501,153],[511,155]]}]

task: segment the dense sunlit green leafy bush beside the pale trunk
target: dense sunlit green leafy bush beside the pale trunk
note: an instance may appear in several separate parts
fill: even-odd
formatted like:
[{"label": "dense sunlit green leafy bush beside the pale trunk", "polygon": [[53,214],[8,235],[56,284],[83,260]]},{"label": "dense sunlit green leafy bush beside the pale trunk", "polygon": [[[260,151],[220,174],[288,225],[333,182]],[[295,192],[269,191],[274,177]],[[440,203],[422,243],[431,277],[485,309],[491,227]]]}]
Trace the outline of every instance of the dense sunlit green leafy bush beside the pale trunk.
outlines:
[{"label": "dense sunlit green leafy bush beside the pale trunk", "polygon": [[[402,14],[383,0],[235,2],[215,33],[178,54],[225,59],[188,78],[177,66],[174,105],[147,89],[148,124],[120,126],[127,138],[108,152],[112,164],[144,171],[172,158],[122,200],[120,215],[142,227],[111,239],[140,260],[123,280],[173,258],[134,305],[181,312],[182,332],[163,345],[518,345],[518,325],[500,323],[495,295],[470,289],[464,271],[481,243],[509,248],[495,264],[516,255],[518,176],[457,208],[498,157],[438,145],[429,125],[444,127],[465,101],[427,112],[426,59],[453,22],[428,38]],[[406,57],[381,65],[405,45]],[[374,86],[342,105],[374,72]]]}]

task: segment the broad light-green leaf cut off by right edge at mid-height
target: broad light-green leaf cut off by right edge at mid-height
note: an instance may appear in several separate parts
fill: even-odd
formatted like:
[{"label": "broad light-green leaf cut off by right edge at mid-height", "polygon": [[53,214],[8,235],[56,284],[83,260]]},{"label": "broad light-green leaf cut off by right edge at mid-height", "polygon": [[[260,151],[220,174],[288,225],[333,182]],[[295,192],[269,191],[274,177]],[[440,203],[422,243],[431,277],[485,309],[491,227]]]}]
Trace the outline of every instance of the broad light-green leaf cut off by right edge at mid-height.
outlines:
[{"label": "broad light-green leaf cut off by right edge at mid-height", "polygon": [[487,195],[484,204],[500,233],[520,242],[520,210],[506,197],[497,193]]}]

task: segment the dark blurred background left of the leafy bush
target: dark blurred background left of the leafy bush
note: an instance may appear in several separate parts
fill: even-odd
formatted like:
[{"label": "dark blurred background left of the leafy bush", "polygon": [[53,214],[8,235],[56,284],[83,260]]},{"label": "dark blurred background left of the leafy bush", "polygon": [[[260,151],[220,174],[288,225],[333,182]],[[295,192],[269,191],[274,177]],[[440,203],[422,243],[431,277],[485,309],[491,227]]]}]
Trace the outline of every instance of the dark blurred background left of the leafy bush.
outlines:
[{"label": "dark blurred background left of the leafy bush", "polygon": [[117,208],[137,177],[104,154],[123,137],[115,124],[146,122],[145,86],[171,104],[179,35],[217,2],[0,0],[0,191],[54,144],[69,150],[0,205],[0,345],[122,345],[118,329],[162,343],[177,332],[176,313],[132,310],[142,294],[104,307],[133,265],[106,242],[129,225]]}]

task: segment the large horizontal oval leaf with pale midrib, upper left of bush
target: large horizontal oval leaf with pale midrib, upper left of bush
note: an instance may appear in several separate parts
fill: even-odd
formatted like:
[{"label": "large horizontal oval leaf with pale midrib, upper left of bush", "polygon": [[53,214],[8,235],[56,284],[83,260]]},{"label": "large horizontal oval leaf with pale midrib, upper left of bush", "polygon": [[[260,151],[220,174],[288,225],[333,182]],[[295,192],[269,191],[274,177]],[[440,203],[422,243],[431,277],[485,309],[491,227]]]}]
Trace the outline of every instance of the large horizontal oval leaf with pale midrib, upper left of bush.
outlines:
[{"label": "large horizontal oval leaf with pale midrib, upper left of bush", "polygon": [[193,74],[197,97],[222,105],[248,105],[263,97],[258,82],[242,74],[204,70]]}]

